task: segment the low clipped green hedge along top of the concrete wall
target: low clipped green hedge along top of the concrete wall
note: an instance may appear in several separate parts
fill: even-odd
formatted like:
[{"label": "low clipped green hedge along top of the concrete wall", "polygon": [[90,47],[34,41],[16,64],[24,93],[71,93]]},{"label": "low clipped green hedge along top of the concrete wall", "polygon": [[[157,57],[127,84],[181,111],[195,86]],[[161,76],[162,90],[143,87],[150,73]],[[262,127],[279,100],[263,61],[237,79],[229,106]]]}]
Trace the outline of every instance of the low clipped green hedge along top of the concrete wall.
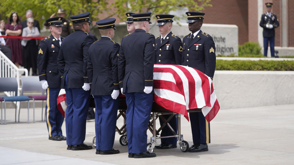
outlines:
[{"label": "low clipped green hedge along top of the concrete wall", "polygon": [[216,60],[215,70],[228,71],[294,71],[294,61]]}]

